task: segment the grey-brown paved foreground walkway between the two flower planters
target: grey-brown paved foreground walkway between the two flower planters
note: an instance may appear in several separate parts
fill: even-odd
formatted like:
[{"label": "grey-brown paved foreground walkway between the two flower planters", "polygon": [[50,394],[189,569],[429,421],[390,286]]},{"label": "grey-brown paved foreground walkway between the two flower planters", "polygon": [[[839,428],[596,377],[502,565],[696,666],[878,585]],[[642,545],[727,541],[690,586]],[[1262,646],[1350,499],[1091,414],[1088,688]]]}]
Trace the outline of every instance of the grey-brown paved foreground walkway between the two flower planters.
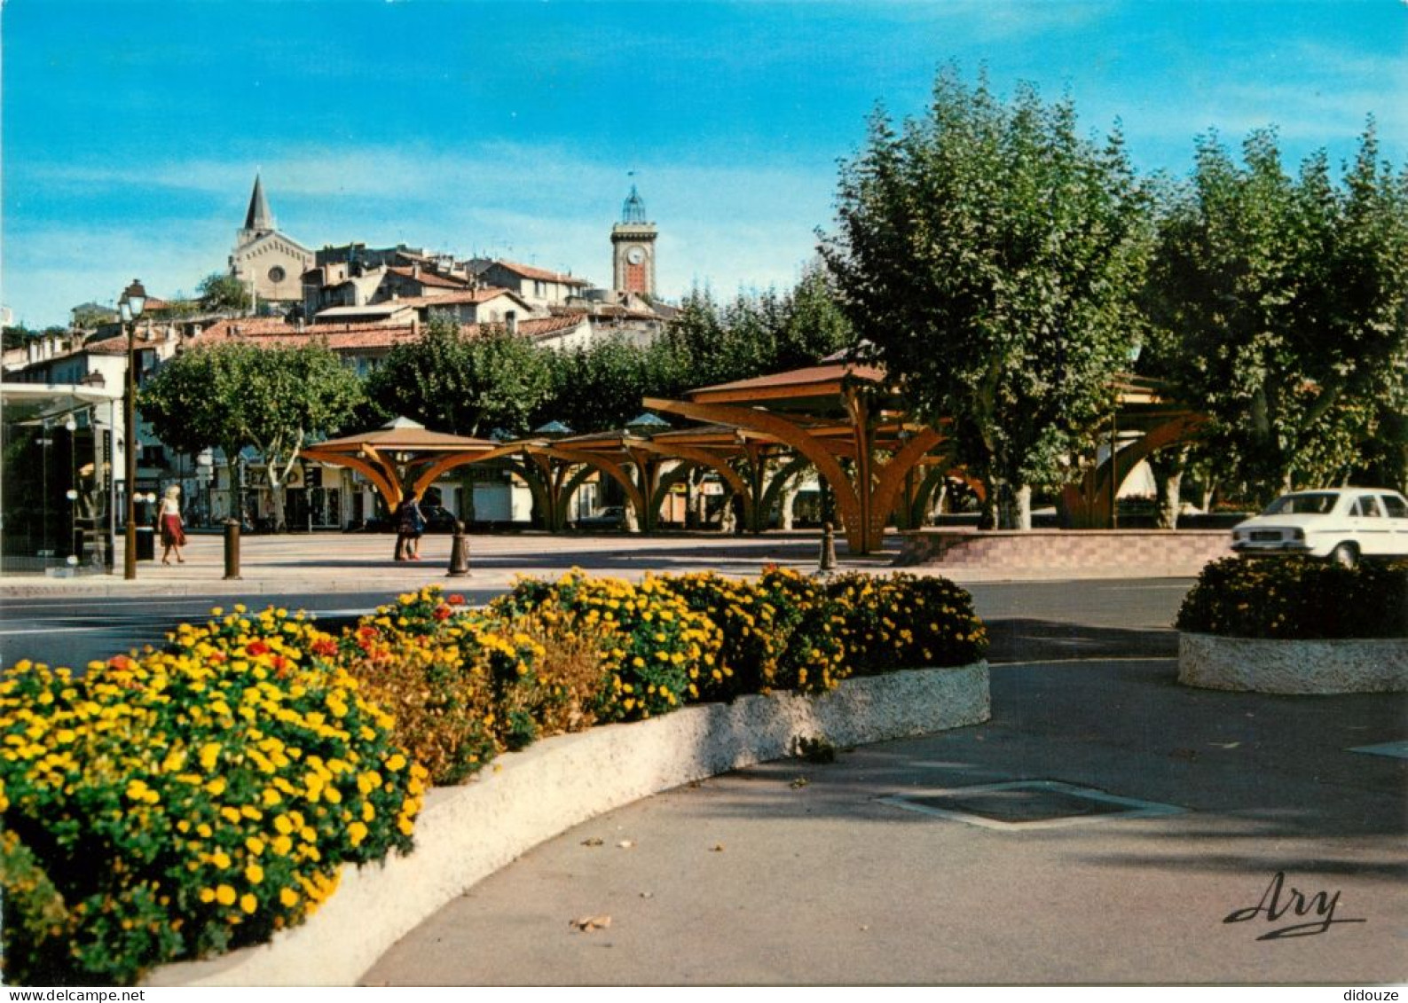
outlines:
[{"label": "grey-brown paved foreground walkway between the two flower planters", "polygon": [[[427,920],[366,983],[1408,976],[1408,761],[1350,751],[1402,741],[1402,696],[1194,691],[1170,660],[1029,663],[994,667],[993,709],[983,726],[831,765],[765,764],[577,826]],[[1015,781],[1177,813],[1101,814],[1108,803],[1038,785],[973,789]],[[988,822],[925,812],[945,806]],[[1256,907],[1277,874],[1287,914],[1273,920]],[[570,926],[590,916],[610,926]],[[1305,923],[1305,935],[1259,940]]]}]

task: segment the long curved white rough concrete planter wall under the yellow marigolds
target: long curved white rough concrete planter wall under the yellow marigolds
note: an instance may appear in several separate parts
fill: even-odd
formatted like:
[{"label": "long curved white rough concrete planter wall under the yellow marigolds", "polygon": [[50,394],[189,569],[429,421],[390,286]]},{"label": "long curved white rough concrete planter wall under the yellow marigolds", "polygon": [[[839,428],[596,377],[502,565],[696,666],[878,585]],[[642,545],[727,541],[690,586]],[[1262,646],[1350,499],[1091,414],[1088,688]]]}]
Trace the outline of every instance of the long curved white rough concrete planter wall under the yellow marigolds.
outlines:
[{"label": "long curved white rough concrete planter wall under the yellow marigolds", "polygon": [[541,741],[474,781],[436,788],[415,852],[345,867],[337,893],[273,941],[156,969],[151,986],[355,985],[383,952],[498,868],[572,826],[660,791],[791,754],[800,737],[856,746],[977,724],[987,663],[850,679],[817,698],[743,696]]}]

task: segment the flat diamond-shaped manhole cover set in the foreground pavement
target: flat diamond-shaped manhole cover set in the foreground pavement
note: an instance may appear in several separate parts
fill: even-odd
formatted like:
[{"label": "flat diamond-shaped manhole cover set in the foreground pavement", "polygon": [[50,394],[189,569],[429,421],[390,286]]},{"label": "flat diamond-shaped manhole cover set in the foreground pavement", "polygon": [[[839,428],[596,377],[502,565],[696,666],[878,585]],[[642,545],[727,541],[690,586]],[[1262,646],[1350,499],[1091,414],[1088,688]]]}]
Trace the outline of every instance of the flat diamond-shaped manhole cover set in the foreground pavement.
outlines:
[{"label": "flat diamond-shaped manhole cover set in the foreground pavement", "polygon": [[1060,781],[1011,781],[894,795],[887,805],[986,829],[1055,829],[1107,819],[1180,814],[1186,809]]}]

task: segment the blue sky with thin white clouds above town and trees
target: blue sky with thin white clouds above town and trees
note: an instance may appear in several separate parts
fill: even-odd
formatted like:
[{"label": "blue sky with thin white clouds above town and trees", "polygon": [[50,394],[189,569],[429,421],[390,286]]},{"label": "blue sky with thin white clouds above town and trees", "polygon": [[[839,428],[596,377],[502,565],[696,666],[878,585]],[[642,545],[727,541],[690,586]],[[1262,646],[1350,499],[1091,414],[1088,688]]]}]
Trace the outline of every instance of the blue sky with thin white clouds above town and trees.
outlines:
[{"label": "blue sky with thin white clouds above town and trees", "polygon": [[[659,284],[790,286],[876,103],[936,69],[1069,91],[1142,170],[1209,128],[1280,129],[1287,165],[1408,160],[1404,0],[607,3],[6,0],[3,273],[15,322],[62,324],[134,276],[222,270],[256,170],[310,248],[404,242],[610,280],[635,180]],[[634,170],[635,176],[628,177]]]}]

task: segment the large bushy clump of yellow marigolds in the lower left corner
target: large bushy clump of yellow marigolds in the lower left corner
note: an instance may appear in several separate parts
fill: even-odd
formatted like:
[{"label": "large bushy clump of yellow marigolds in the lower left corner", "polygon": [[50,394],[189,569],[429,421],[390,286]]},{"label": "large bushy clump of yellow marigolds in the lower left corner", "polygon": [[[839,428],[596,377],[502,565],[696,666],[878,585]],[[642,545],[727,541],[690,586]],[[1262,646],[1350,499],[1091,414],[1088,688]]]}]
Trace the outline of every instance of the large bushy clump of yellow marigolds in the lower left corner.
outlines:
[{"label": "large bushy clump of yellow marigolds in the lower left corner", "polygon": [[7,982],[125,983],[265,941],[341,864],[411,845],[424,771],[331,637],[237,608],[172,641],[0,681]]}]

